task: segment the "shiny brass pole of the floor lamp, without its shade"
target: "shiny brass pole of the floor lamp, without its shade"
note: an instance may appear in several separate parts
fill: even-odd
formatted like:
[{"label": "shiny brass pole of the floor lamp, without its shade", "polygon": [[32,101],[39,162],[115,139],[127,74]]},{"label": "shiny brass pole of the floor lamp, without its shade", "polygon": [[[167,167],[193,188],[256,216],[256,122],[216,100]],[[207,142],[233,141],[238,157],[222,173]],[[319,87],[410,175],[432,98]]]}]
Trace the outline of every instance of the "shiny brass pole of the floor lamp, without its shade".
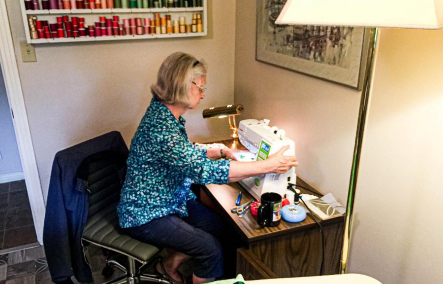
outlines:
[{"label": "shiny brass pole of the floor lamp, without its shade", "polygon": [[354,152],[352,156],[352,167],[349,178],[348,201],[347,201],[346,215],[345,215],[342,256],[340,259],[340,274],[346,273],[346,268],[348,264],[355,190],[357,186],[358,168],[360,164],[360,156],[361,156],[361,149],[365,134],[366,120],[368,119],[369,116],[369,105],[371,101],[372,85],[374,81],[379,36],[380,36],[380,31],[378,28],[370,28],[369,52],[365,68],[363,90],[361,93],[357,132],[355,134]]}]

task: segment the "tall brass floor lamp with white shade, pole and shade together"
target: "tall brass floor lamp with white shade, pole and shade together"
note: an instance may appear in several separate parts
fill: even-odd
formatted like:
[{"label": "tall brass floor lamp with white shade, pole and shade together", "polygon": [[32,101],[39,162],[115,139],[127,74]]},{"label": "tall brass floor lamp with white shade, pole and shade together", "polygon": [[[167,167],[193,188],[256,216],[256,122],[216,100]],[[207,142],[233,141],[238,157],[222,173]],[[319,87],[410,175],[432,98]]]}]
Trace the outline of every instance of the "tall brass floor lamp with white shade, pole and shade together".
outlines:
[{"label": "tall brass floor lamp with white shade, pole and shade together", "polygon": [[440,29],[442,0],[287,0],[276,20],[280,25],[370,28],[370,42],[349,179],[340,273],[346,273],[355,191],[377,59],[378,28]]}]

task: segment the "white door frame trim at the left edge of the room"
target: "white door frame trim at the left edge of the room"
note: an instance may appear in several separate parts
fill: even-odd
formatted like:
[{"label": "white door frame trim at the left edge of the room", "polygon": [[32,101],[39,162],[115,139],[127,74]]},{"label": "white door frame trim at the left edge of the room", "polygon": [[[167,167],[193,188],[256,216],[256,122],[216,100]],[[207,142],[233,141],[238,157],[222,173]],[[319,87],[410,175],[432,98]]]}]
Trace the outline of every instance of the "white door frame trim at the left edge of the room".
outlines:
[{"label": "white door frame trim at the left edge of the room", "polygon": [[25,101],[23,99],[23,90],[14,51],[6,3],[2,0],[0,0],[0,63],[9,107],[11,108],[11,111],[13,111],[12,121],[31,205],[35,233],[38,242],[40,245],[43,245],[45,201],[38,175],[34,147],[32,145],[31,131],[29,128]]}]

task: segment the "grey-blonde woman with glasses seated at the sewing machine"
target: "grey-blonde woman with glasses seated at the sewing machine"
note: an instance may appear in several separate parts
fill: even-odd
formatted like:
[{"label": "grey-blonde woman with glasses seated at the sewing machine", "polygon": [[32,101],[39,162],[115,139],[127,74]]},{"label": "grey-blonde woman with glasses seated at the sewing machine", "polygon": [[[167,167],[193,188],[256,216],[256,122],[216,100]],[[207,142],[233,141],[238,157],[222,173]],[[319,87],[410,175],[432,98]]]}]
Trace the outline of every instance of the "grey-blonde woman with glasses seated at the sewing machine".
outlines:
[{"label": "grey-blonde woman with glasses seated at the sewing machine", "polygon": [[[192,283],[214,281],[223,274],[220,219],[196,201],[191,183],[228,183],[297,166],[283,147],[264,161],[235,161],[233,149],[201,148],[186,134],[182,117],[204,99],[206,64],[176,52],[162,63],[153,99],[132,139],[127,177],[117,211],[120,226],[135,239],[174,252],[156,269],[170,281],[185,280],[179,266],[193,258]],[[231,160],[216,160],[221,155]]]}]

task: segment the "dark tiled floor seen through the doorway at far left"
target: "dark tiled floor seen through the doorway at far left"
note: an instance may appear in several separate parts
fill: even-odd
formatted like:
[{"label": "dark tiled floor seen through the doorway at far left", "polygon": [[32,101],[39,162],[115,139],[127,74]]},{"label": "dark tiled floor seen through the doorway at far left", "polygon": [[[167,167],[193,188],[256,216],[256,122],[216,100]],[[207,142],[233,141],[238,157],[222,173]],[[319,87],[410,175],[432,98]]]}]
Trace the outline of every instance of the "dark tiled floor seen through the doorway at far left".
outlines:
[{"label": "dark tiled floor seen through the doorway at far left", "polygon": [[0,184],[0,253],[37,242],[24,180]]}]

